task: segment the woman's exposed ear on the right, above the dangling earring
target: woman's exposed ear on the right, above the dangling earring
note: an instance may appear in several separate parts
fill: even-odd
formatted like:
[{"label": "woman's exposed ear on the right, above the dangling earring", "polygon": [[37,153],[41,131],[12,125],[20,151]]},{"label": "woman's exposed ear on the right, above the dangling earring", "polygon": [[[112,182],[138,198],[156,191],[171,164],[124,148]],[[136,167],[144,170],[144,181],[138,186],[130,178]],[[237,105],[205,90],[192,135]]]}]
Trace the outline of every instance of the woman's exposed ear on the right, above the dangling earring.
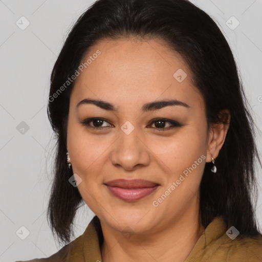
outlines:
[{"label": "woman's exposed ear on the right, above the dangling earring", "polygon": [[222,110],[219,113],[221,123],[212,124],[209,132],[209,139],[207,145],[207,162],[211,162],[211,156],[213,159],[217,158],[219,151],[222,148],[230,123],[230,113],[228,110]]}]

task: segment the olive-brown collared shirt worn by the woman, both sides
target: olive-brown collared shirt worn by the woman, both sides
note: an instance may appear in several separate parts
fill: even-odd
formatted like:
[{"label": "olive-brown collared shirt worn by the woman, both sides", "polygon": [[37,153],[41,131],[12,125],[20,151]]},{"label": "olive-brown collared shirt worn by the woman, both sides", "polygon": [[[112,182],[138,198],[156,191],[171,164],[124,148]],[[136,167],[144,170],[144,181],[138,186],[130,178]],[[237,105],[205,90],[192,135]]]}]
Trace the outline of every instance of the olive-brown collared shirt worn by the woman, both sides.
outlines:
[{"label": "olive-brown collared shirt worn by the woman, both sides", "polygon": [[[96,217],[97,218],[97,217]],[[94,217],[95,219],[95,217]],[[92,221],[94,221],[94,219]],[[216,217],[198,239],[184,262],[261,262],[262,237],[241,238],[228,231],[221,217]],[[229,236],[228,236],[229,235]],[[101,262],[101,237],[91,222],[84,233],[48,258],[27,262]],[[22,261],[16,261],[22,262]]]}]

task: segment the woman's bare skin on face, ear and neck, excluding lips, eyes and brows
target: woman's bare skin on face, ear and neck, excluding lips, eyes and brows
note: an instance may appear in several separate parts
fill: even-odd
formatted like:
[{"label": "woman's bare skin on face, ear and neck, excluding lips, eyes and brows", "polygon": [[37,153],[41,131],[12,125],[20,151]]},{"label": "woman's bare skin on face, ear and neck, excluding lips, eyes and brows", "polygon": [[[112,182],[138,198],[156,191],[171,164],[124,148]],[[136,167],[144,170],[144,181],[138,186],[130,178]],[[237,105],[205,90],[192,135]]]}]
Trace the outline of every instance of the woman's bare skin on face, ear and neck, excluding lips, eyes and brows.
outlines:
[{"label": "woman's bare skin on face, ear and neck, excluding lips, eyes and brows", "polygon": [[[101,222],[103,262],[184,261],[205,230],[199,208],[205,163],[211,162],[211,155],[214,159],[219,155],[229,125],[216,124],[208,132],[205,103],[192,73],[160,40],[99,41],[83,60],[96,50],[101,54],[77,77],[71,94],[67,148],[73,172],[82,179],[78,190]],[[187,74],[182,82],[173,77],[178,69]],[[106,101],[117,111],[94,104],[76,107],[84,98]],[[145,103],[170,99],[189,107],[142,111]],[[103,129],[81,123],[95,117],[108,121],[100,124]],[[158,131],[151,122],[155,118],[182,126]],[[129,135],[121,129],[126,121],[135,127]],[[170,126],[164,122],[162,129]],[[202,155],[206,159],[159,206],[153,206]],[[145,179],[160,186],[139,201],[126,202],[104,185],[119,178]]]}]

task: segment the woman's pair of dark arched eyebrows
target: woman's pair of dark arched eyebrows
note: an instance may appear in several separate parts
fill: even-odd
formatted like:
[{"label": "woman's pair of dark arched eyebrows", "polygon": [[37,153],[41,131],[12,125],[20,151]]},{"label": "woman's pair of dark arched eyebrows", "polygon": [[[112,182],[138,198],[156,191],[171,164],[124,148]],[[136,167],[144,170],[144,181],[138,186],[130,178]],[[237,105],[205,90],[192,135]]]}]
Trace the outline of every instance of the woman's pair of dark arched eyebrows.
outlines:
[{"label": "woman's pair of dark arched eyebrows", "polygon": [[[104,110],[107,111],[117,111],[117,109],[115,108],[115,106],[111,103],[102,101],[102,100],[98,100],[98,99],[88,99],[85,98],[83,100],[81,100],[80,102],[77,103],[76,107],[78,108],[80,105],[82,104],[94,104]],[[156,102],[150,102],[150,103],[146,103],[143,105],[142,110],[144,112],[148,112],[148,111],[154,111],[154,110],[159,110],[163,107],[166,106],[173,106],[173,105],[181,105],[187,108],[190,108],[190,106],[182,101],[179,100],[161,100],[161,101],[156,101]]]}]

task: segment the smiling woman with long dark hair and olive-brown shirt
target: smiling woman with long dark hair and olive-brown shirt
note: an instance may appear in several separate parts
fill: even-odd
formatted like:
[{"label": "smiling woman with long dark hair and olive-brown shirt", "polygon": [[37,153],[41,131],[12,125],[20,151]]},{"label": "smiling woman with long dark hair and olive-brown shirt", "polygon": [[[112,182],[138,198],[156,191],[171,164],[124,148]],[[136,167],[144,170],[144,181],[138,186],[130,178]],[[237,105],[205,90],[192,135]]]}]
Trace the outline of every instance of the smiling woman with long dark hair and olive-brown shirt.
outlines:
[{"label": "smiling woman with long dark hair and olive-brown shirt", "polygon": [[[97,1],[54,65],[48,116],[48,215],[67,245],[30,261],[262,260],[254,124],[205,12],[186,0]],[[96,216],[70,242],[83,203]]]}]

